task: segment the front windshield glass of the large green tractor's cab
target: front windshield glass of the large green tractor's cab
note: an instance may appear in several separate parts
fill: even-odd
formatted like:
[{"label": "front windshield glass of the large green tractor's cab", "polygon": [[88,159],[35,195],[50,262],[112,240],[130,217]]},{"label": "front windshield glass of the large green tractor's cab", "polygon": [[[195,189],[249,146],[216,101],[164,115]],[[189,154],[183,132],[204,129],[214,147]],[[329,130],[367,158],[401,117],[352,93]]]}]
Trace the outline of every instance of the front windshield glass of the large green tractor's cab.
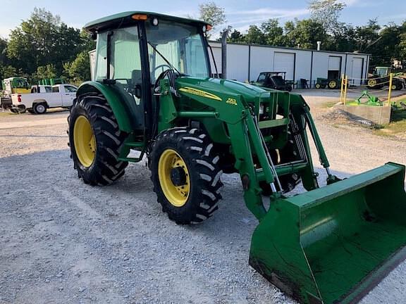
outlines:
[{"label": "front windshield glass of the large green tractor's cab", "polygon": [[[157,26],[146,23],[145,27],[148,42],[154,46],[148,46],[152,82],[161,72],[171,69],[171,65],[188,76],[209,77],[207,50],[197,27],[166,21],[161,21]],[[166,61],[171,64],[168,65]]]}]

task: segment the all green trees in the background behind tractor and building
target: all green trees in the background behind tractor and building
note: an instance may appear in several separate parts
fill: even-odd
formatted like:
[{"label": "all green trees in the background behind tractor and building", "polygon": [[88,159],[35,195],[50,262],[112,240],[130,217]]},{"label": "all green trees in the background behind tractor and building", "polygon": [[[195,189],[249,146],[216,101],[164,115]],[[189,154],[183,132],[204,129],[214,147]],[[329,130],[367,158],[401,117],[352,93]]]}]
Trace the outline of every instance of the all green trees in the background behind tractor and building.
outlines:
[{"label": "all green trees in the background behind tractor and building", "polygon": [[[366,25],[340,23],[345,4],[338,0],[309,2],[311,16],[290,20],[281,25],[269,19],[261,25],[250,25],[247,33],[232,27],[228,42],[316,49],[321,41],[326,51],[371,53],[371,68],[395,65],[406,68],[406,21],[400,25],[379,25],[376,19]],[[199,5],[199,17],[221,27],[226,23],[224,8],[214,2]],[[223,32],[223,31],[221,31]],[[88,52],[96,47],[84,30],[68,27],[58,15],[35,8],[30,18],[11,30],[8,39],[0,38],[0,80],[27,77],[32,83],[44,78],[63,77],[77,83],[90,80]]]}]

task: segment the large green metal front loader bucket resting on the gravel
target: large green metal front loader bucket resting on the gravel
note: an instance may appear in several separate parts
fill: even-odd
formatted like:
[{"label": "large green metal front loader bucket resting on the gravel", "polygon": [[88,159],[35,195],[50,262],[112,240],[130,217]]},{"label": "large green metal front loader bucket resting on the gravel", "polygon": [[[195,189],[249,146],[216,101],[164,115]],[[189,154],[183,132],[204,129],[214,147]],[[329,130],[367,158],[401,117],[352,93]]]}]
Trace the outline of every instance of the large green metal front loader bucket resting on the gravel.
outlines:
[{"label": "large green metal front loader bucket resting on the gravel", "polygon": [[271,201],[250,265],[300,303],[357,303],[406,255],[405,166]]}]

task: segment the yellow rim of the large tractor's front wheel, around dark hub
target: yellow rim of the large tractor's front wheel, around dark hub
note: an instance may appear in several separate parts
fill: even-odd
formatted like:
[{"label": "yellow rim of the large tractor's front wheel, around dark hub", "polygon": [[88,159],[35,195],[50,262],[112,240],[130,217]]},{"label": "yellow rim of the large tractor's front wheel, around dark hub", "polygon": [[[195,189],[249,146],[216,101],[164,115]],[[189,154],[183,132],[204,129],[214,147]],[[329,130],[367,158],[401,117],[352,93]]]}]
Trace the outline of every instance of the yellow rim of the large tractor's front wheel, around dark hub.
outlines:
[{"label": "yellow rim of the large tractor's front wheel, around dark hub", "polygon": [[[171,170],[176,167],[181,167],[185,172],[186,182],[182,186],[176,186],[171,179]],[[175,207],[185,205],[190,192],[190,177],[185,160],[176,151],[168,149],[161,154],[158,163],[158,177],[161,189],[169,203]]]}]

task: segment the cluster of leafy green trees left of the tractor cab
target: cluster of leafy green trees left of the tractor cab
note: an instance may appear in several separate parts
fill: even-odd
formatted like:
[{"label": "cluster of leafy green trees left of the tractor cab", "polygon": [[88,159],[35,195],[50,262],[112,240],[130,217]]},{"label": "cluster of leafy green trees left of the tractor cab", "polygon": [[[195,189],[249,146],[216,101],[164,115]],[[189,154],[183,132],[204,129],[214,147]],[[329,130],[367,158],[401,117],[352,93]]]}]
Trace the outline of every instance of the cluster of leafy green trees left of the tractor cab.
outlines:
[{"label": "cluster of leafy green trees left of the tractor cab", "polygon": [[0,37],[0,80],[16,76],[27,77],[33,84],[56,77],[73,83],[90,80],[88,52],[95,47],[85,31],[35,8],[8,39]]}]

